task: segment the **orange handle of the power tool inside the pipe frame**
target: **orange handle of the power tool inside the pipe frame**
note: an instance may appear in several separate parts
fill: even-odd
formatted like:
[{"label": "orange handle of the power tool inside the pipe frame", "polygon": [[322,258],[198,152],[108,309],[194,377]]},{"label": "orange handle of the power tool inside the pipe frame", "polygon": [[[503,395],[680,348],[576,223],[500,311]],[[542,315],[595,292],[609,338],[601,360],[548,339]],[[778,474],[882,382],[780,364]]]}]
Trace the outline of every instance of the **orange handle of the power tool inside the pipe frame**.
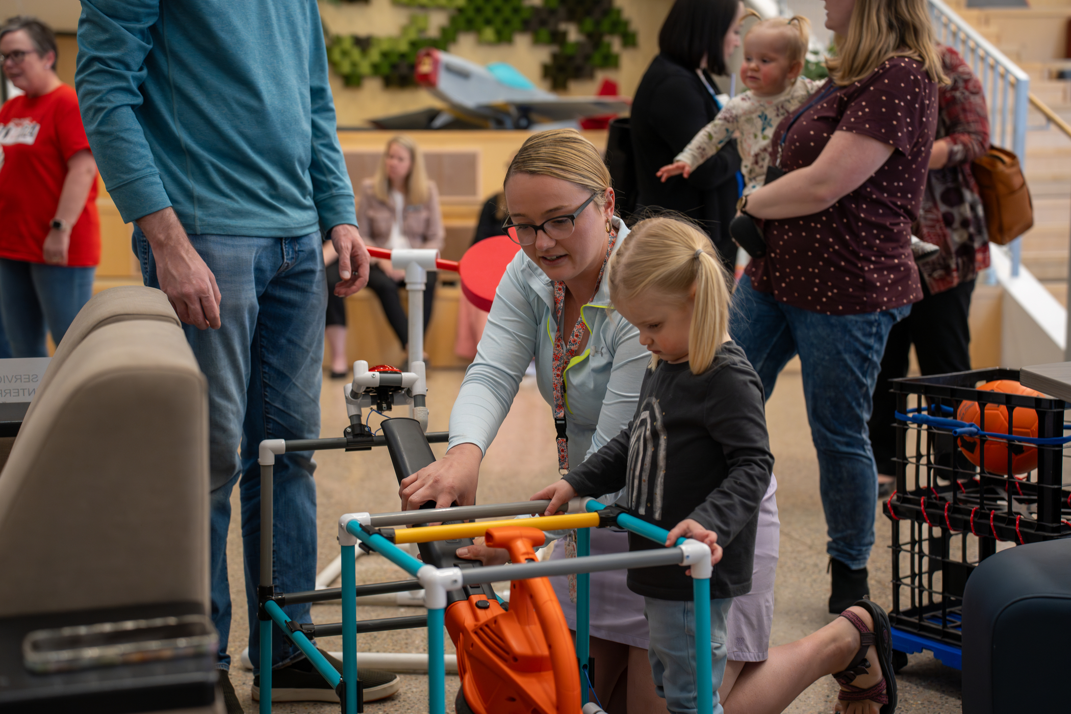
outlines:
[{"label": "orange handle of the power tool inside the pipe frame", "polygon": [[[512,562],[524,563],[538,560],[532,547],[543,545],[546,536],[537,528],[506,526],[488,528],[484,537],[492,548],[506,548]],[[557,713],[576,714],[580,707],[580,674],[576,669],[576,650],[558,596],[546,578],[522,580],[521,584],[528,590],[536,618],[550,650]]]}]

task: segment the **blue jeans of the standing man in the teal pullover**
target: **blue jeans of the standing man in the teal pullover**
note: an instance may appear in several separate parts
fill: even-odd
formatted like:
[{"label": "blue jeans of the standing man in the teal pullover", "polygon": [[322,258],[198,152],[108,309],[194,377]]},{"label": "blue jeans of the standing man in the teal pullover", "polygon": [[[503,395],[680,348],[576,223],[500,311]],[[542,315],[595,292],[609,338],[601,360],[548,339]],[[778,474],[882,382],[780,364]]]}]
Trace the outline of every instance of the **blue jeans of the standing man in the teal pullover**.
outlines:
[{"label": "blue jeans of the standing man in the teal pullover", "polygon": [[[218,330],[183,325],[209,384],[212,621],[220,632],[220,667],[229,669],[230,583],[227,529],[230,492],[239,484],[250,659],[260,663],[257,583],[260,579],[260,467],[262,439],[317,439],[323,360],[323,254],[319,233],[297,238],[191,236],[215,275],[222,302]],[[134,252],[145,284],[160,287],[145,234],[134,229]],[[241,447],[241,453],[239,453]],[[274,470],[276,592],[313,590],[316,581],[316,462],[312,452],[285,454]],[[283,608],[312,622],[308,605]],[[282,633],[272,636],[272,663],[303,655]]]}]

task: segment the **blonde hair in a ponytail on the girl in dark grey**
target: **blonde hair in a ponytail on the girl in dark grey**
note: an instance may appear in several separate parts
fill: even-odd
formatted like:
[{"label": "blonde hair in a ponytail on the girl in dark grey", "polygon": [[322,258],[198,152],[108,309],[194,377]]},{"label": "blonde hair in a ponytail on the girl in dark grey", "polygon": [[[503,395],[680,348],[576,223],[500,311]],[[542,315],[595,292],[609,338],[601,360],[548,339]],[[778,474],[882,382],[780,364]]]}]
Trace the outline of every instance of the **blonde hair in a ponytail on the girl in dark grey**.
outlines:
[{"label": "blonde hair in a ponytail on the girl in dark grey", "polygon": [[[614,254],[607,273],[614,301],[652,292],[687,300],[695,286],[689,366],[693,375],[710,368],[728,331],[729,283],[706,233],[674,218],[643,221]],[[651,355],[651,368],[658,361]]]}]

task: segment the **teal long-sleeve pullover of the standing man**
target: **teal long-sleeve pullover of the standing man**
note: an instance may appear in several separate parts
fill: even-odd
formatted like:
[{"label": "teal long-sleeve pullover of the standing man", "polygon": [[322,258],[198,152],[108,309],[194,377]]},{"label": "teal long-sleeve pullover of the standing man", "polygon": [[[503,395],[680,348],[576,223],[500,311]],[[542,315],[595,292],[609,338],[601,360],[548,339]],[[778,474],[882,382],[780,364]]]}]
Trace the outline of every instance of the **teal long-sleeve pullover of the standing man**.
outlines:
[{"label": "teal long-sleeve pullover of the standing man", "polygon": [[78,104],[123,221],[285,238],[357,225],[316,0],[82,0]]}]

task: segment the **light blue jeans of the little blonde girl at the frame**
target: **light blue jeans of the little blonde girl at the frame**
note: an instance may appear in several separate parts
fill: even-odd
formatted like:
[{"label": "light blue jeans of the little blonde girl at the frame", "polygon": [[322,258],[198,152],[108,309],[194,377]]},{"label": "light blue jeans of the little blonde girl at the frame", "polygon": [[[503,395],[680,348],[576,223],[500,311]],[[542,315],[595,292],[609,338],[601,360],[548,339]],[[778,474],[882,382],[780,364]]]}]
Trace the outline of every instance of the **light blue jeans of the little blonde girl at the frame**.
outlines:
[{"label": "light blue jeans of the little blonde girl at the frame", "polygon": [[[710,601],[710,654],[714,684],[714,711],[721,714],[718,687],[725,677],[726,625],[733,598]],[[644,617],[651,635],[647,658],[651,663],[654,689],[673,714],[696,714],[695,603],[644,597]]]}]

